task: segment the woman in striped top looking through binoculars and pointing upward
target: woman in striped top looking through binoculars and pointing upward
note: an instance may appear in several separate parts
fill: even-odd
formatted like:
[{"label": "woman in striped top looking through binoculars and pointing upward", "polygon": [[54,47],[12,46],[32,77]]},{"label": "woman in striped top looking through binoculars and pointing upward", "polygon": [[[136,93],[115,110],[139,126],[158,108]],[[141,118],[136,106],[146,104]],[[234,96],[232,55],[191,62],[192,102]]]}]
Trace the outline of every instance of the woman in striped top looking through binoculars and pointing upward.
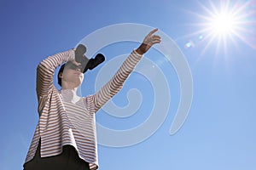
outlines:
[{"label": "woman in striped top looking through binoculars and pointing upward", "polygon": [[[77,89],[84,80],[88,61],[71,49],[44,59],[37,68],[39,121],[26,156],[24,170],[95,170],[98,168],[95,113],[117,94],[149,48],[160,43],[150,31],[143,43],[125,59],[113,78],[96,94],[79,97]],[[82,52],[81,52],[82,51]],[[85,59],[86,60],[86,59]],[[61,90],[53,84],[55,68]],[[85,63],[85,64],[84,64]],[[85,66],[86,65],[86,66]],[[84,69],[85,66],[85,69]]]}]

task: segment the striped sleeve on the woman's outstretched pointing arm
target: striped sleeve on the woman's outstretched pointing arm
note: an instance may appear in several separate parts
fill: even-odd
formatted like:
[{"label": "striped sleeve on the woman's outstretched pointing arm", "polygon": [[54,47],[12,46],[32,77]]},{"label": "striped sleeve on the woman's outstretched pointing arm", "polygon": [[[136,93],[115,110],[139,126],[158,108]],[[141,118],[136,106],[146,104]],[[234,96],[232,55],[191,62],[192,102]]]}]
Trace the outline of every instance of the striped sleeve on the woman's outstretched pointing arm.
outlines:
[{"label": "striped sleeve on the woman's outstretched pointing arm", "polygon": [[96,92],[94,95],[95,112],[98,111],[102,105],[106,104],[113,95],[119,92],[123,87],[125,80],[129,77],[131,71],[134,70],[142,57],[143,55],[137,54],[136,50],[133,50],[111,80]]}]

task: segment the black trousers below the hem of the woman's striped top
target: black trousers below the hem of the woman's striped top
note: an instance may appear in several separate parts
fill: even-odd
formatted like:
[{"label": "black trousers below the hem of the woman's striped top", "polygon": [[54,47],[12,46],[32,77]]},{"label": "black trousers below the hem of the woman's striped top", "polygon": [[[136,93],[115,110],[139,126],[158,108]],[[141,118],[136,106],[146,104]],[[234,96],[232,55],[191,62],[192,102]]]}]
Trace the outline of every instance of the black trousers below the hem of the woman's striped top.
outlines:
[{"label": "black trousers below the hem of the woman's striped top", "polygon": [[80,159],[77,151],[71,145],[63,146],[59,156],[40,156],[40,145],[32,161],[24,164],[24,170],[90,170],[89,163]]}]

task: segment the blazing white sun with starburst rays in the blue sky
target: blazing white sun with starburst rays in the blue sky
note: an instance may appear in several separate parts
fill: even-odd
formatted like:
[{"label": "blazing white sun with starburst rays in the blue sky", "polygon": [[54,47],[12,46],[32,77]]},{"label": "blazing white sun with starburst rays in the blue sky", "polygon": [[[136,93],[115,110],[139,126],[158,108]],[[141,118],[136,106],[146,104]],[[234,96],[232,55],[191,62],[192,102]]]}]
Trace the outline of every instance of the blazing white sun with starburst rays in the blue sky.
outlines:
[{"label": "blazing white sun with starburst rays in the blue sky", "polygon": [[[256,48],[255,44],[255,8],[253,1],[209,1],[204,4],[198,2],[202,10],[200,13],[193,13],[198,16],[199,22],[195,26],[200,26],[200,30],[191,33],[197,35],[204,41],[206,46],[202,53],[214,45],[216,53],[224,51],[227,53],[233,44],[239,48],[240,42],[245,42],[251,48]],[[195,43],[189,42],[186,48],[195,47]],[[190,46],[189,46],[190,45]]]}]

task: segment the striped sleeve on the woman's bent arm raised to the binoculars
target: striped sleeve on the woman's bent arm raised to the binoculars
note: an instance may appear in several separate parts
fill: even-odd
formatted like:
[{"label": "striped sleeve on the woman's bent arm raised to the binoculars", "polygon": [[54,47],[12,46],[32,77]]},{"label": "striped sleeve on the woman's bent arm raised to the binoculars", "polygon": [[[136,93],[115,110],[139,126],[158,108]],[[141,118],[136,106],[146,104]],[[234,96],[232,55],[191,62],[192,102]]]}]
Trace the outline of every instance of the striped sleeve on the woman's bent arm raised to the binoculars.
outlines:
[{"label": "striped sleeve on the woman's bent arm raised to the binoculars", "polygon": [[74,59],[74,50],[70,49],[66,52],[51,55],[42,60],[37,67],[37,94],[38,94],[38,113],[40,114],[46,96],[53,89],[53,77],[55,68],[67,60]]}]

